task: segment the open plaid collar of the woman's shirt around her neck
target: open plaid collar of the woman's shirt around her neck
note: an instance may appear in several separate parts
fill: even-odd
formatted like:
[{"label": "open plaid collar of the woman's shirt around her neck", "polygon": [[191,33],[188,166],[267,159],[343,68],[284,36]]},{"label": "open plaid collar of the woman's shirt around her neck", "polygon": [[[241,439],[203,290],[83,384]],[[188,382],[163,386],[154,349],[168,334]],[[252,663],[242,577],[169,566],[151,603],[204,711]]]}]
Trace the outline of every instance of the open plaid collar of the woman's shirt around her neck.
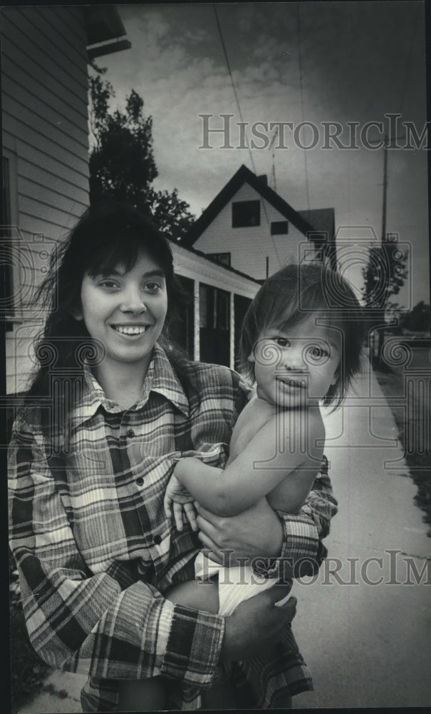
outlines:
[{"label": "open plaid collar of the woman's shirt around her neck", "polygon": [[[189,415],[189,402],[184,389],[167,358],[165,350],[157,343],[155,344],[152,360],[145,376],[142,396],[130,410],[138,411],[144,407],[152,391],[162,394],[162,396],[172,402],[185,416]],[[106,397],[103,388],[90,371],[90,368],[85,367],[83,395],[71,412],[71,418],[75,425],[78,426],[78,424],[90,419],[96,411],[98,411],[100,406],[110,413],[125,411],[115,401]]]}]

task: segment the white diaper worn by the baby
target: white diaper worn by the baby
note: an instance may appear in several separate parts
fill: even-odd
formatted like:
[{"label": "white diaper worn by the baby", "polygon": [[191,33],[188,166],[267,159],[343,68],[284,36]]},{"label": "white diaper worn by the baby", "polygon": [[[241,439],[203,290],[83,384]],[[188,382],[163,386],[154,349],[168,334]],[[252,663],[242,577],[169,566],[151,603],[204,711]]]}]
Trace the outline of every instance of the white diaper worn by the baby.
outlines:
[{"label": "white diaper worn by the baby", "polygon": [[[219,576],[219,615],[232,615],[239,603],[273,588],[277,582],[276,578],[265,578],[255,573],[249,565],[225,568],[209,560],[202,551],[199,551],[194,561],[194,575],[197,580]],[[283,603],[283,600],[280,602]]]}]

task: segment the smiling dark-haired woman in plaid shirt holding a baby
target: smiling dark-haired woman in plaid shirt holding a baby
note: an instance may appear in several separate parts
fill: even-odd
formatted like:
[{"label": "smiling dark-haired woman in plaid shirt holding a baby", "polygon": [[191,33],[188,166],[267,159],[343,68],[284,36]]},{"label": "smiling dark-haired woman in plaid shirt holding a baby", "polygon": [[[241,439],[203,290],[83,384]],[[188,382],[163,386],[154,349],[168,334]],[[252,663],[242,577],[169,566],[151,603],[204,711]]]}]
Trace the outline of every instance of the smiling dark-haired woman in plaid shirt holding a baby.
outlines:
[{"label": "smiling dark-haired woman in plaid shirt holding a baby", "polygon": [[9,452],[11,548],[33,647],[88,674],[84,711],[118,710],[118,680],[157,677],[166,708],[199,708],[220,661],[258,707],[311,688],[286,630],[295,600],[274,607],[286,587],[226,618],[164,596],[193,577],[202,543],[214,560],[272,558],[286,577],[301,556],[318,563],[336,510],[321,473],[298,516],[201,509],[199,540],[167,521],[170,455],[229,443],[249,393],[237,373],[172,348],[178,295],[167,241],[114,203],[85,212],[41,287],[39,368]]}]

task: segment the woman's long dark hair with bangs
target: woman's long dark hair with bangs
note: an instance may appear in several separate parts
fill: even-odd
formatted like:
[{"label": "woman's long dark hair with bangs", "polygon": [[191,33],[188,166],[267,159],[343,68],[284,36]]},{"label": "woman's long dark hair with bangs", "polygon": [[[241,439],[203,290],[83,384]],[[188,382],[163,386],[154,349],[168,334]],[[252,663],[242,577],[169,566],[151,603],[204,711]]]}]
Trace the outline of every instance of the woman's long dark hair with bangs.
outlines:
[{"label": "woman's long dark hair with bangs", "polygon": [[[28,396],[48,396],[49,371],[55,360],[55,370],[65,377],[83,368],[85,355],[91,363],[97,358],[83,321],[73,317],[81,308],[81,285],[85,273],[95,276],[110,273],[119,265],[130,271],[140,250],[145,250],[165,273],[167,316],[159,338],[169,356],[180,369],[183,355],[169,339],[169,325],[176,317],[184,293],[177,280],[169,241],[157,230],[151,219],[128,203],[98,203],[90,206],[72,228],[66,241],[51,255],[48,275],[38,288],[37,301],[48,318],[36,338],[35,356],[38,371]],[[93,345],[93,348],[91,347]]]}]

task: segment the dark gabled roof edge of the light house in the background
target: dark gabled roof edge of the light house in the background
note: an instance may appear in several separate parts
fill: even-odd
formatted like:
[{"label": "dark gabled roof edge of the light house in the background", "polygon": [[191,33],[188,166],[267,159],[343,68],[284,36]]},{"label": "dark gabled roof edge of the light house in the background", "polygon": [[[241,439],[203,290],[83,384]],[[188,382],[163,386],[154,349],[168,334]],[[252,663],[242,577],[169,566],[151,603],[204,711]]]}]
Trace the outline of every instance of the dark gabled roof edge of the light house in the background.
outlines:
[{"label": "dark gabled roof edge of the light house in the background", "polygon": [[[199,216],[197,221],[193,223],[184,238],[182,238],[182,241],[180,241],[180,245],[191,247],[197,241],[197,238],[202,236],[204,230],[210,225],[210,223],[212,223],[212,221],[214,221],[214,218],[220,213],[220,211],[222,211],[222,208],[224,208],[224,206],[229,203],[231,198],[234,197],[235,193],[239,191],[239,188],[241,188],[243,183],[249,183],[249,185],[254,188],[254,190],[257,191],[257,193],[259,193],[265,201],[268,201],[271,206],[274,206],[276,211],[279,211],[284,218],[287,218],[287,220],[298,228],[298,231],[303,233],[304,236],[310,232],[314,233],[316,231],[321,231],[321,228],[317,228],[312,225],[303,215],[306,211],[303,211],[303,213],[295,211],[294,208],[289,206],[287,201],[284,201],[284,198],[281,198],[278,193],[273,191],[272,188],[269,188],[264,179],[259,178],[256,174],[253,174],[253,172],[250,171],[250,169],[247,169],[247,167],[243,164],[240,169],[238,169],[237,173],[232,176],[230,181],[227,182],[226,186],[222,188],[222,191],[217,194],[214,201],[209,203],[209,206],[205,208],[202,215]],[[332,211],[333,209],[329,208],[323,210]],[[310,211],[310,213],[313,214],[315,211]]]}]

